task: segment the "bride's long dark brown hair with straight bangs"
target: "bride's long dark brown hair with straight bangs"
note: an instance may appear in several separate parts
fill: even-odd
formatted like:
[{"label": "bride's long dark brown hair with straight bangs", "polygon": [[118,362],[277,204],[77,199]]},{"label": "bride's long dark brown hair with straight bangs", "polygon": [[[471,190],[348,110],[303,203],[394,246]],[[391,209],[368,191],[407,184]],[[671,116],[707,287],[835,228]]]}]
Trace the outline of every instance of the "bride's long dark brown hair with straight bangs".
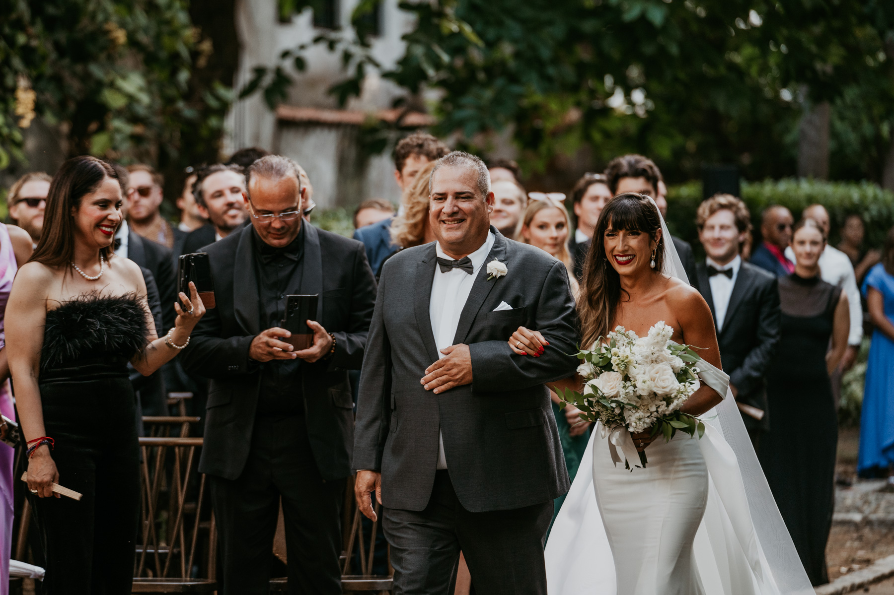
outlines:
[{"label": "bride's long dark brown hair with straight bangs", "polygon": [[[612,198],[605,205],[590,242],[590,251],[586,254],[582,298],[578,300],[583,338],[581,348],[585,349],[611,331],[621,298],[620,275],[605,254],[605,230],[609,223],[613,230],[642,231],[651,239],[655,239],[662,228],[658,209],[645,195],[628,192]],[[656,273],[661,272],[664,265],[664,241],[662,235],[655,247]]]}]

